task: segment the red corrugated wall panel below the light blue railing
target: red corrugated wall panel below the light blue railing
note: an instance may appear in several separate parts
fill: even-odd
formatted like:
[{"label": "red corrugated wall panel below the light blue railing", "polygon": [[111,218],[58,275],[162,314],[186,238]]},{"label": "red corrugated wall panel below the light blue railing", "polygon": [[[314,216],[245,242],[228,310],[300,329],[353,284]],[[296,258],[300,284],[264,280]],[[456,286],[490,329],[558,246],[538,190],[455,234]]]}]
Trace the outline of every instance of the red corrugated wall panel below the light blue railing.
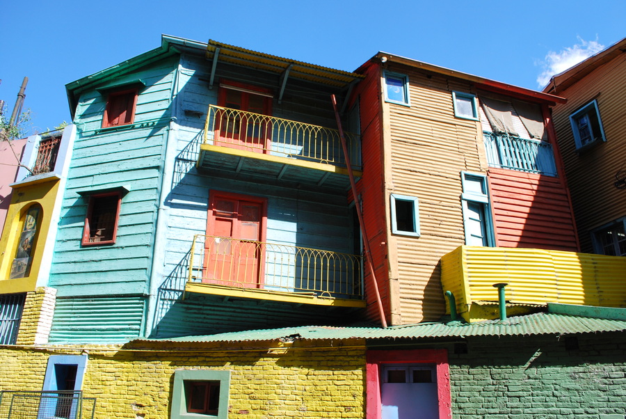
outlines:
[{"label": "red corrugated wall panel below the light blue railing", "polygon": [[559,177],[490,168],[488,179],[497,246],[577,251]]}]

